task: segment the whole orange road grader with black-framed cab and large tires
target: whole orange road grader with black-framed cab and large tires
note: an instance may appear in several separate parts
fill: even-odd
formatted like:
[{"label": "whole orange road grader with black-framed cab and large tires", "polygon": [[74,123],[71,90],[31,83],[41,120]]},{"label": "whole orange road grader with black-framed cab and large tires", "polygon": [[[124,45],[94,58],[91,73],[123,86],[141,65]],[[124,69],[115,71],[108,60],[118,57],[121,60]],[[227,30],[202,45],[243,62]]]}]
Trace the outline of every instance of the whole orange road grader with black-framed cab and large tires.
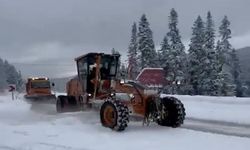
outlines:
[{"label": "whole orange road grader with black-framed cab and large tires", "polygon": [[88,53],[76,58],[78,76],[67,83],[67,96],[58,96],[57,112],[99,108],[101,124],[116,131],[127,127],[129,116],[141,117],[146,124],[173,128],[183,124],[185,108],[180,100],[118,79],[119,57]]}]

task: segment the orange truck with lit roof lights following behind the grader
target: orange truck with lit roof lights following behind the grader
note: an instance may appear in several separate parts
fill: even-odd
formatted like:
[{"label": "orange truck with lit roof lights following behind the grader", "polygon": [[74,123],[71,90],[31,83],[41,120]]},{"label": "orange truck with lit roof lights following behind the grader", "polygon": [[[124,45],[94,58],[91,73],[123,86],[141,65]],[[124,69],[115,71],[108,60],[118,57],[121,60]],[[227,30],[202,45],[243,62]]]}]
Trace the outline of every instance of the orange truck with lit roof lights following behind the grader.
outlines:
[{"label": "orange truck with lit roof lights following behind the grader", "polygon": [[51,92],[49,78],[46,77],[32,77],[27,79],[25,99],[35,102],[52,102],[56,101],[55,94]]}]

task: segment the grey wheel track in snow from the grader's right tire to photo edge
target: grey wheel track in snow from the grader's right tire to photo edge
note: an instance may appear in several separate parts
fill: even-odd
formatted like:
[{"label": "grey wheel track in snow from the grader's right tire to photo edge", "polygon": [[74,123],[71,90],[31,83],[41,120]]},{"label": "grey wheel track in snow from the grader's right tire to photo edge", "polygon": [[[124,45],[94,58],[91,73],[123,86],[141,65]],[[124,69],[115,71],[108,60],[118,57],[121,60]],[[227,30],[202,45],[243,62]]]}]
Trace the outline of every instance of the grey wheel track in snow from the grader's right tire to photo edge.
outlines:
[{"label": "grey wheel track in snow from the grader's right tire to photo edge", "polygon": [[182,128],[194,131],[250,138],[250,124],[186,118]]}]

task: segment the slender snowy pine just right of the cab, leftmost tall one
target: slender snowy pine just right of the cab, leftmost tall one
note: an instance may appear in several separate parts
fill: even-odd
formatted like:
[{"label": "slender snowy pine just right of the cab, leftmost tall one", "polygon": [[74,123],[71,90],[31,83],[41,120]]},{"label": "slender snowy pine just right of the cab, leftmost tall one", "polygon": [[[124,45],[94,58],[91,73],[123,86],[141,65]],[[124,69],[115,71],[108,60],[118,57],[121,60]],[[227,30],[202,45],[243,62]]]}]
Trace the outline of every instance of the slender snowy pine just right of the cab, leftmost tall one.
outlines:
[{"label": "slender snowy pine just right of the cab, leftmost tall one", "polygon": [[135,80],[139,73],[138,54],[137,54],[137,27],[132,25],[131,39],[128,47],[128,78]]}]

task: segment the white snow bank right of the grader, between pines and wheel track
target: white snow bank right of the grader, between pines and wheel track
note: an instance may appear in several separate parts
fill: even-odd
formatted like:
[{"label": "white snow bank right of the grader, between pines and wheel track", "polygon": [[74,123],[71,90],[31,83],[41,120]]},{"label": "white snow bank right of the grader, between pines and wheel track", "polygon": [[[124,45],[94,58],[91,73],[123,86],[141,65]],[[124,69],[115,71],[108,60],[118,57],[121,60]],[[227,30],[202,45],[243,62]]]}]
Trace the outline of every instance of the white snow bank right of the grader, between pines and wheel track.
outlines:
[{"label": "white snow bank right of the grader, between pines and wheel track", "polygon": [[250,124],[250,98],[176,95],[187,117]]}]

